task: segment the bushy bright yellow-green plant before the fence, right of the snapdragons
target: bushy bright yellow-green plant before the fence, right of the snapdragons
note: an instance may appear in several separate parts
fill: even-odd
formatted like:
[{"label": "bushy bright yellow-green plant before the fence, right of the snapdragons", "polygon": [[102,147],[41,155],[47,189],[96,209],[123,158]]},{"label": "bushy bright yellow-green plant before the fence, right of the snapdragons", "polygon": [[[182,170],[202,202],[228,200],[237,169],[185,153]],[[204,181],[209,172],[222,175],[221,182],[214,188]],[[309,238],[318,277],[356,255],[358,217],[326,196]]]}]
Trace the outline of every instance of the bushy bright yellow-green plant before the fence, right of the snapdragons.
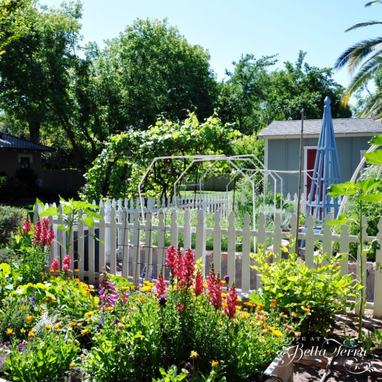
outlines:
[{"label": "bushy bright yellow-green plant before the fence, right of the snapdragons", "polygon": [[[284,251],[287,252],[287,248]],[[271,263],[269,257],[272,255],[264,255],[262,248],[256,255],[251,255],[257,262],[251,267],[258,272],[262,282],[259,292],[250,295],[251,300],[257,302],[260,298],[270,306],[275,299],[279,309],[288,315],[296,319],[304,317],[303,331],[320,331],[326,336],[335,313],[346,312],[346,307],[354,306],[347,301],[356,296],[353,277],[340,276],[338,266],[344,255],[315,255],[315,268],[297,261],[296,254]]]}]

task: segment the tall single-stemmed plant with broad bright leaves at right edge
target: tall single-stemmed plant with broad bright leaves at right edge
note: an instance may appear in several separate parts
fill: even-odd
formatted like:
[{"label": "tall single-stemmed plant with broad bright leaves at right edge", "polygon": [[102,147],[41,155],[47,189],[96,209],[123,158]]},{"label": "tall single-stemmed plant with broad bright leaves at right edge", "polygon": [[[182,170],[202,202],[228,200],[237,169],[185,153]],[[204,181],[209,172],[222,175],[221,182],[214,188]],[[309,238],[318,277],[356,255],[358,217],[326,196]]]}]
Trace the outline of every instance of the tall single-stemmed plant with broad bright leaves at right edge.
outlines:
[{"label": "tall single-stemmed plant with broad bright leaves at right edge", "polygon": [[[377,135],[373,137],[370,142],[373,145],[382,145],[382,135]],[[366,157],[367,163],[373,165],[382,166],[382,151],[376,150],[371,153],[364,154]],[[343,213],[338,216],[337,219],[328,222],[329,225],[343,226],[354,223],[358,226],[358,238],[359,238],[359,253],[360,261],[358,266],[360,269],[358,277],[358,287],[360,289],[360,300],[359,300],[359,327],[358,327],[358,337],[362,339],[362,322],[365,308],[365,285],[364,280],[366,279],[366,269],[364,269],[363,258],[367,256],[372,248],[373,243],[365,244],[365,238],[363,237],[364,232],[364,223],[363,215],[365,203],[381,203],[382,202],[382,193],[378,191],[378,187],[382,186],[382,181],[376,178],[365,179],[362,181],[354,182],[345,182],[342,184],[331,185],[328,189],[328,194],[331,197],[346,196],[350,198],[357,206],[357,215],[348,216],[346,213]]]}]

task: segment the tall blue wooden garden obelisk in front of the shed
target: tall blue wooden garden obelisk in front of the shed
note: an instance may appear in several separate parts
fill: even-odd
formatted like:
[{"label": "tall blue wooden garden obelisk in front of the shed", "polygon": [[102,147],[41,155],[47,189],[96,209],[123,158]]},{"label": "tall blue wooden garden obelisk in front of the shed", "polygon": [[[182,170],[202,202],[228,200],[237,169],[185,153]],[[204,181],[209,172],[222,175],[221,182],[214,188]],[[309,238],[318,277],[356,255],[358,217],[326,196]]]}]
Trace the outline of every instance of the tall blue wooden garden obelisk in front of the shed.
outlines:
[{"label": "tall blue wooden garden obelisk in front of the shed", "polygon": [[[325,216],[334,211],[337,216],[339,202],[328,195],[328,187],[341,183],[341,170],[338,160],[336,139],[334,137],[330,98],[324,100],[324,115],[314,162],[312,186],[310,188],[306,217],[311,214],[324,222]],[[306,220],[305,220],[306,221]]]}]

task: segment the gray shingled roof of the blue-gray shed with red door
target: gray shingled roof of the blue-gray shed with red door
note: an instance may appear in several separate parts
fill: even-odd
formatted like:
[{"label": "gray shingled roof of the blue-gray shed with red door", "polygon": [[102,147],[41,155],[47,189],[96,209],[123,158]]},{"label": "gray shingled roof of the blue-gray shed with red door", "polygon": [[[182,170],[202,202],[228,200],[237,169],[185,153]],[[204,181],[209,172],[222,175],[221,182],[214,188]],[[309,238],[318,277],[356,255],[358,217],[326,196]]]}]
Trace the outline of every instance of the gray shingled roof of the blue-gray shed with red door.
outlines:
[{"label": "gray shingled roof of the blue-gray shed with red door", "polygon": [[[319,135],[322,126],[322,119],[304,120],[305,135]],[[370,134],[382,133],[382,124],[373,118],[333,118],[334,134]],[[288,135],[299,135],[301,131],[301,121],[274,121],[268,125],[258,136],[275,137]]]}]

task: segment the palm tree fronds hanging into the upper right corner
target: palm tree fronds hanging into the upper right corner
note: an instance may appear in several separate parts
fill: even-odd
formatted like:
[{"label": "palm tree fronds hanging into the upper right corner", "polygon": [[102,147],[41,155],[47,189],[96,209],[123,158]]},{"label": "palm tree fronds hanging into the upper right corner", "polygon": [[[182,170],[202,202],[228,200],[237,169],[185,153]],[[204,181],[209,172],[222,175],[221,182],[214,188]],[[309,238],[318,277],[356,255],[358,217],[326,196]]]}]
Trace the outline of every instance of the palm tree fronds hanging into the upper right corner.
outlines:
[{"label": "palm tree fronds hanging into the upper right corner", "polygon": [[[369,1],[365,6],[369,7],[377,4],[382,4],[382,0]],[[382,24],[382,20],[361,22],[351,26],[345,32],[377,24]],[[337,59],[334,69],[341,69],[346,65],[350,74],[353,75],[357,69],[358,72],[354,74],[354,77],[342,96],[341,102],[345,105],[357,89],[366,85],[378,71],[382,70],[382,36],[363,40],[350,46]],[[363,115],[374,114],[374,116],[377,116],[382,114],[381,95],[382,91],[378,91],[369,99]]]}]

